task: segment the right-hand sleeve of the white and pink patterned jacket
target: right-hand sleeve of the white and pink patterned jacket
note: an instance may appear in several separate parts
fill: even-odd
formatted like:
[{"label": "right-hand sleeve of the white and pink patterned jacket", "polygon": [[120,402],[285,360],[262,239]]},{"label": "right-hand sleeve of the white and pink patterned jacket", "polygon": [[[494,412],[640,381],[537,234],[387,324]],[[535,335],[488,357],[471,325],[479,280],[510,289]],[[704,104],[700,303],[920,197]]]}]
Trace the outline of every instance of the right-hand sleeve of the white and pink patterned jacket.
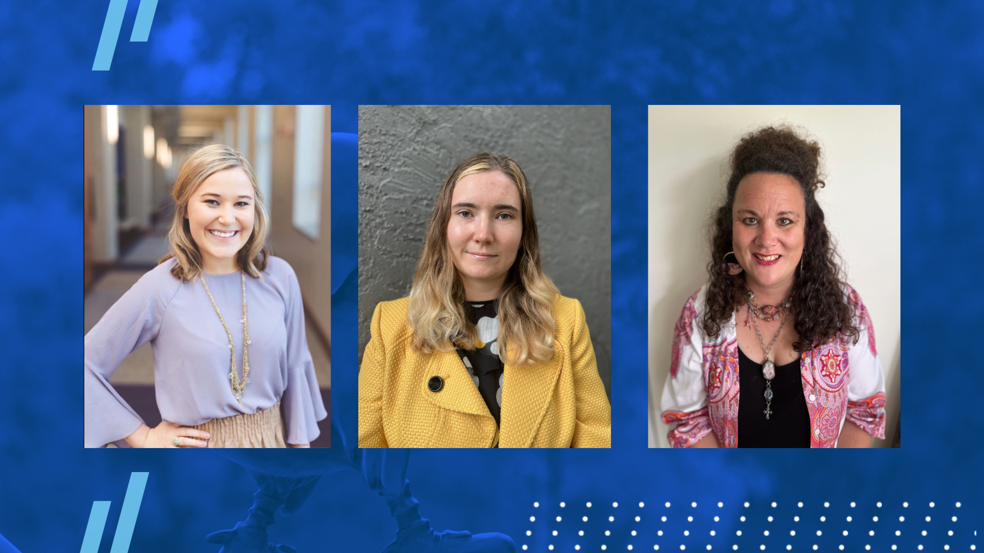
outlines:
[{"label": "right-hand sleeve of the white and pink patterned jacket", "polygon": [[850,383],[846,420],[875,438],[885,439],[885,372],[875,347],[875,328],[855,290],[848,291],[848,301],[854,307],[861,334],[847,351]]}]

